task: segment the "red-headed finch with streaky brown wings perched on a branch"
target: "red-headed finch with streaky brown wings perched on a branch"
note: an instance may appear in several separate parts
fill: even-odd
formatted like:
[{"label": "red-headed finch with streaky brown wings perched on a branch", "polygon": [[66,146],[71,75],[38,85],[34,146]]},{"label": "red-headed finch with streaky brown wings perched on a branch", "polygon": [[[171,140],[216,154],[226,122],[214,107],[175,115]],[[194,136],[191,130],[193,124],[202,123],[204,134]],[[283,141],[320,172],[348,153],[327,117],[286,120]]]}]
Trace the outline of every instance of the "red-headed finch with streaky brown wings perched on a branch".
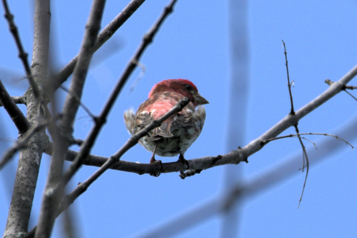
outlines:
[{"label": "red-headed finch with streaky brown wings perched on a branch", "polygon": [[206,119],[205,107],[208,101],[200,95],[197,87],[186,79],[168,79],[156,83],[149,93],[149,98],[143,102],[136,113],[129,109],[124,113],[127,130],[134,135],[145,128],[153,120],[159,119],[170,111],[184,97],[190,102],[182,111],[164,121],[161,126],[150,131],[139,140],[139,144],[152,152],[150,163],[159,163],[155,155],[176,156],[179,161],[188,162],[183,157],[202,131]]}]

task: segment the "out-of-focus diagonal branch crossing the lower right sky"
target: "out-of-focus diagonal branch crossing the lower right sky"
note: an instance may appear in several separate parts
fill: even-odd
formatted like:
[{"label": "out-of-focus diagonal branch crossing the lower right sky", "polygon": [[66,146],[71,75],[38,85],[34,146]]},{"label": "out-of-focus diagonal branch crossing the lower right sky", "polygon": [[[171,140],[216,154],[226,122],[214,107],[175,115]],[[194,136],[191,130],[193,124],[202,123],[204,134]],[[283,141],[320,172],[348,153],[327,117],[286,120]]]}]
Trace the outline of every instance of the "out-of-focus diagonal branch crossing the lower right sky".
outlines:
[{"label": "out-of-focus diagonal branch crossing the lower right sky", "polygon": [[[357,120],[355,118],[355,120],[352,121],[353,122],[347,127],[345,126],[341,128],[342,130],[338,130],[338,133],[341,133],[343,137],[347,137],[348,140],[353,140],[357,137],[356,133],[351,133],[351,129],[357,127]],[[318,153],[316,153],[314,149],[308,151],[309,154],[313,155],[310,159],[311,164],[316,164],[317,162],[329,158],[331,153],[341,148],[340,143],[333,143],[331,140],[324,140],[319,144],[321,144],[322,150]],[[243,199],[256,196],[258,193],[266,191],[267,188],[272,187],[276,183],[295,175],[297,173],[296,168],[298,168],[301,163],[300,159],[300,155],[292,156],[283,163],[279,162],[271,169],[264,169],[264,171],[259,172],[258,176],[245,179],[246,182],[238,181],[232,186],[232,189],[223,191],[204,203],[193,204],[192,207],[183,213],[168,219],[168,221],[162,224],[156,224],[152,226],[154,228],[150,227],[135,237],[172,237],[180,232],[187,231],[191,227],[202,223],[202,221],[207,221],[211,217],[224,212],[228,206],[227,203],[229,204],[232,201],[239,203]]]}]

